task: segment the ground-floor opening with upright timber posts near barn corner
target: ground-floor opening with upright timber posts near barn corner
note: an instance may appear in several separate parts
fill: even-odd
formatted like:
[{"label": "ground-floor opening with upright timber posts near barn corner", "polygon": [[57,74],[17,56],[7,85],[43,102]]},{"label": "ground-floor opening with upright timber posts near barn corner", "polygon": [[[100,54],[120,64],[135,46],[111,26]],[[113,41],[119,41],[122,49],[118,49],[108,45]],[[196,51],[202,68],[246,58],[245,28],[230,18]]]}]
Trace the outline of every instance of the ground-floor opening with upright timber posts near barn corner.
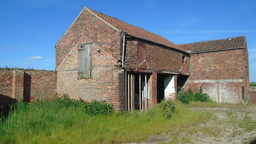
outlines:
[{"label": "ground-floor opening with upright timber posts near barn corner", "polygon": [[125,109],[128,112],[143,111],[152,106],[150,76],[147,73],[126,73]]}]

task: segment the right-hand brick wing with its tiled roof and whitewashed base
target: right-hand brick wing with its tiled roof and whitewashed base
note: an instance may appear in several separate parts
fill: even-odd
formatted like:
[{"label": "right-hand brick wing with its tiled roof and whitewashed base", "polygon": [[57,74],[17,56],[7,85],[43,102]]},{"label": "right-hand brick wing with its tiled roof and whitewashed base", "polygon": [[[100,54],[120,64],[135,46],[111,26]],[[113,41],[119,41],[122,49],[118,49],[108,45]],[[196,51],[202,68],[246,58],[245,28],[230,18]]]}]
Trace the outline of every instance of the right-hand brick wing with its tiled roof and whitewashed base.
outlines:
[{"label": "right-hand brick wing with its tiled roof and whitewashed base", "polygon": [[246,37],[182,44],[190,50],[189,73],[183,88],[202,88],[218,102],[239,103],[247,99],[249,65]]}]

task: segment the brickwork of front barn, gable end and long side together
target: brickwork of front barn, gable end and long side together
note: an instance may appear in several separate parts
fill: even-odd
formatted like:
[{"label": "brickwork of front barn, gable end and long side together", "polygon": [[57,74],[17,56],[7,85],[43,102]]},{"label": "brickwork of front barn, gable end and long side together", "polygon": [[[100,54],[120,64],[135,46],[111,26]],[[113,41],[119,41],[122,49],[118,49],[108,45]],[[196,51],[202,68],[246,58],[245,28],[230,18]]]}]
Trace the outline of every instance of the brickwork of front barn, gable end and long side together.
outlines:
[{"label": "brickwork of front barn, gable end and long side together", "polygon": [[[77,79],[78,45],[88,42],[92,43],[92,77]],[[155,105],[157,72],[179,73],[182,67],[185,67],[182,66],[183,55],[188,55],[179,50],[126,36],[126,67],[137,68],[139,43],[146,45],[146,69],[154,72],[150,77],[150,84],[152,102]],[[122,60],[122,46],[121,31],[113,29],[84,9],[56,44],[57,93],[65,93],[71,98],[82,98],[87,101],[105,100],[113,104],[116,111],[124,109],[125,70],[114,66]]]}]

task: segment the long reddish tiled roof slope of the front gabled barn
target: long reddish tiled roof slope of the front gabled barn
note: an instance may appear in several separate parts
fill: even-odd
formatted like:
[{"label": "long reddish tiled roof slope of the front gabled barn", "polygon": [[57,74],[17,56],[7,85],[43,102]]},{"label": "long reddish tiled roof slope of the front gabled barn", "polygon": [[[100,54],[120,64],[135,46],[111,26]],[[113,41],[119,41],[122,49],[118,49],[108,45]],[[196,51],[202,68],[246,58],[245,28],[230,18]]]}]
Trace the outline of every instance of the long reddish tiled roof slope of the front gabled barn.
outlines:
[{"label": "long reddish tiled roof slope of the front gabled barn", "polygon": [[107,23],[111,24],[116,29],[119,29],[122,32],[126,32],[129,35],[149,40],[153,43],[159,43],[159,44],[162,44],[164,46],[171,47],[171,48],[178,49],[178,50],[186,52],[186,50],[184,50],[180,46],[170,42],[170,40],[164,38],[163,36],[160,36],[160,35],[151,33],[149,31],[146,31],[142,28],[130,25],[128,23],[123,22],[120,19],[117,19],[117,18],[108,16],[108,15],[105,15],[103,13],[94,11],[94,10],[88,8],[88,7],[85,7],[85,8],[89,9],[94,14],[96,14],[97,16],[99,16],[100,18],[105,20]]}]

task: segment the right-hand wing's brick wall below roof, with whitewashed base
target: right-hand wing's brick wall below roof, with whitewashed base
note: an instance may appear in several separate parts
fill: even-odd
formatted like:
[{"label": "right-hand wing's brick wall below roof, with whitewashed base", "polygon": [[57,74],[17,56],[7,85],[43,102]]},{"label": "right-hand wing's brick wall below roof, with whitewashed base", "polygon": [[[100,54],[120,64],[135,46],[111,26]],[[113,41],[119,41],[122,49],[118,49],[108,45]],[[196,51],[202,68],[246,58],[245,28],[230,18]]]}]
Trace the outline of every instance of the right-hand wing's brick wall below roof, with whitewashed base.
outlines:
[{"label": "right-hand wing's brick wall below roof, with whitewashed base", "polygon": [[193,54],[190,76],[183,88],[196,92],[201,87],[218,102],[242,102],[248,83],[245,61],[245,49]]}]

